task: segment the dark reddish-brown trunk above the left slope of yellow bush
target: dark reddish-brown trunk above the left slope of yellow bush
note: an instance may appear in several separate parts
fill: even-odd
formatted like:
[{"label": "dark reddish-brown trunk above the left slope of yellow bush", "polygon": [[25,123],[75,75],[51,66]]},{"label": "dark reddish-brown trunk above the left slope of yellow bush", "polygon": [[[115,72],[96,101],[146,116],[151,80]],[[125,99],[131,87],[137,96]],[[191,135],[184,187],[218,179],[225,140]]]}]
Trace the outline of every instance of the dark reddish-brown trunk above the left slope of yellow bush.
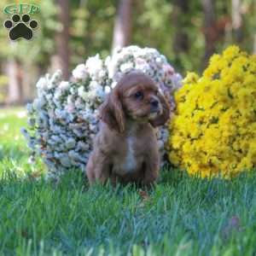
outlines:
[{"label": "dark reddish-brown trunk above the left slope of yellow bush", "polygon": [[204,67],[207,66],[210,56],[215,51],[215,42],[217,35],[215,29],[215,9],[214,0],[201,0],[204,11],[204,35],[205,35],[205,55],[204,55]]}]

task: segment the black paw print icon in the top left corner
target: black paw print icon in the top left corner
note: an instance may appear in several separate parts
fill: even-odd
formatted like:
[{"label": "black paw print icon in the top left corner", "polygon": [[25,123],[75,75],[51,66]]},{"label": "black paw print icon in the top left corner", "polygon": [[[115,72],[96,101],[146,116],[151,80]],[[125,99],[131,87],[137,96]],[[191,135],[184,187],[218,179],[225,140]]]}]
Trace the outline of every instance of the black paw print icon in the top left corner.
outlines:
[{"label": "black paw print icon in the top left corner", "polygon": [[3,26],[9,29],[9,38],[15,41],[18,38],[31,40],[34,30],[38,28],[38,21],[31,20],[29,15],[13,15],[11,20],[5,20]]}]

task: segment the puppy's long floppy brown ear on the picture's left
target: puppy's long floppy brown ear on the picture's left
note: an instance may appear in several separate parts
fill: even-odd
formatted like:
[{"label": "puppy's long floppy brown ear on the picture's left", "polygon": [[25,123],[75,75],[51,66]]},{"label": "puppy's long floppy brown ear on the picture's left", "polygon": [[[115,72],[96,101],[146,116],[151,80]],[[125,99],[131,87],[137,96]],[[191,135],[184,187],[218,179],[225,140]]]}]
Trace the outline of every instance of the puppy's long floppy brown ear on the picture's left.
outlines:
[{"label": "puppy's long floppy brown ear on the picture's left", "polygon": [[111,130],[125,131],[125,113],[119,99],[118,90],[113,90],[100,107],[100,119],[106,123]]}]

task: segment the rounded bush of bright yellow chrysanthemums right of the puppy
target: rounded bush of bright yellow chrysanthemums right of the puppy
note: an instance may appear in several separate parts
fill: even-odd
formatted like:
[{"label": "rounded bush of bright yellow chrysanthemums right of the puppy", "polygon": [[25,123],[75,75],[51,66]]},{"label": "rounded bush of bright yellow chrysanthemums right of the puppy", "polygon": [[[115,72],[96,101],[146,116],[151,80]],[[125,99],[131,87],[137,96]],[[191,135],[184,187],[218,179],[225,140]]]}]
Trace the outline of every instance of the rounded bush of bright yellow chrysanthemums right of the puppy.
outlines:
[{"label": "rounded bush of bright yellow chrysanthemums right of the puppy", "polygon": [[169,160],[191,175],[234,177],[256,166],[256,55],[236,46],[212,55],[175,94]]}]

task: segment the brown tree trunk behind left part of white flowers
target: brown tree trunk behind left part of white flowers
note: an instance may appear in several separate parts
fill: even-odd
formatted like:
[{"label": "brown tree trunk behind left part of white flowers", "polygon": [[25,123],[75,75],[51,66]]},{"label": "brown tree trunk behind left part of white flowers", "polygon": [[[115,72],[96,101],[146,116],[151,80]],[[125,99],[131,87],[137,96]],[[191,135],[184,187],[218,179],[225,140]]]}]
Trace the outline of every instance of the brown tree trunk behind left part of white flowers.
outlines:
[{"label": "brown tree trunk behind left part of white flowers", "polygon": [[69,65],[69,49],[68,49],[68,40],[69,40],[69,11],[68,11],[68,0],[58,0],[59,5],[59,19],[61,21],[61,32],[56,36],[57,44],[57,58],[58,58],[58,67],[61,68],[63,73],[63,78],[69,78],[68,65]]}]

